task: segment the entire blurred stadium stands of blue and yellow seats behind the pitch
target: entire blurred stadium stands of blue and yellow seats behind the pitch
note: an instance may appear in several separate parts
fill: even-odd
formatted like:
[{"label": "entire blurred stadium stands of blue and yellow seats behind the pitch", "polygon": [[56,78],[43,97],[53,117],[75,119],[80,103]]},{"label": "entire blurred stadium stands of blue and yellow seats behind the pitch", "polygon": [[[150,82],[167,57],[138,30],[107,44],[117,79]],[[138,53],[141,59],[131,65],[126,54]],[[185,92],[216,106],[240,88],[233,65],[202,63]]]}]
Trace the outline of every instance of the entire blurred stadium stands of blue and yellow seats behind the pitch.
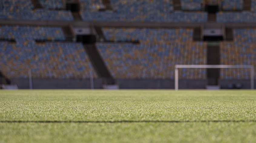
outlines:
[{"label": "entire blurred stadium stands of blue and yellow seats behind the pitch", "polygon": [[[97,70],[94,77],[99,81],[111,79],[104,84],[116,84],[119,79],[174,79],[175,64],[211,64],[210,55],[220,60],[217,64],[255,65],[256,30],[232,31],[233,27],[244,27],[243,23],[256,22],[256,0],[250,2],[251,11],[248,1],[243,0],[79,0],[68,5],[63,0],[2,0],[2,21],[15,24],[19,20],[37,20],[37,25],[46,20],[50,26],[0,26],[1,72],[7,78],[27,78],[31,70],[35,78],[85,79],[93,69],[92,61]],[[58,25],[63,20],[69,21],[62,23],[63,27],[50,24]],[[114,27],[112,21],[123,23],[115,23]],[[125,22],[137,28],[128,28]],[[152,29],[147,22],[152,22]],[[177,28],[172,22],[182,23],[180,29],[171,29]],[[228,27],[225,23],[235,24]],[[28,24],[33,25],[30,21]],[[85,32],[79,33],[80,28]],[[207,39],[207,30],[220,30],[223,35],[218,40],[233,41],[220,42],[214,36]],[[83,44],[67,42],[75,40]],[[209,54],[212,47],[215,53]],[[204,87],[206,79],[211,78],[208,71],[181,69],[179,78],[200,79],[198,83]],[[249,79],[249,75],[246,69],[220,70],[221,79]],[[220,84],[219,76],[216,79],[216,85]]]}]

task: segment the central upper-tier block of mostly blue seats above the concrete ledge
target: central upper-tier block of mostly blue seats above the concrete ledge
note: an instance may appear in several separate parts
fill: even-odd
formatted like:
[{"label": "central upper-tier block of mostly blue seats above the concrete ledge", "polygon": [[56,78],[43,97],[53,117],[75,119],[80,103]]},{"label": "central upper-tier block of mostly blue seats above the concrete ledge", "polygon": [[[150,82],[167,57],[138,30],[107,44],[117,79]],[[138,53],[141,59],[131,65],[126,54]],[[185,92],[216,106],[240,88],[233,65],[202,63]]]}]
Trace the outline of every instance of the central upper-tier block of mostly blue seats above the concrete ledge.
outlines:
[{"label": "central upper-tier block of mostly blue seats above the concrete ledge", "polygon": [[99,0],[82,0],[81,3],[82,11],[80,14],[84,21],[207,21],[207,13],[205,12],[173,11],[172,1],[168,0],[112,0],[111,5],[114,11],[98,11],[104,7],[104,5]]}]

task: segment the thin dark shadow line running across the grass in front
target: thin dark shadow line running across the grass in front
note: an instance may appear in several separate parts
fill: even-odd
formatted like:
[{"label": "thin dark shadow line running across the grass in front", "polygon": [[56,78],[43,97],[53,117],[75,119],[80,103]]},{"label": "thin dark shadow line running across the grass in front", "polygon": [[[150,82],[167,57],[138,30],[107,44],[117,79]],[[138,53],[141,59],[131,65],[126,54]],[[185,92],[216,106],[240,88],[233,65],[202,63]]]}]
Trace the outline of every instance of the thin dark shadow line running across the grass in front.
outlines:
[{"label": "thin dark shadow line running across the grass in front", "polygon": [[22,121],[3,120],[0,123],[221,123],[221,122],[256,122],[256,120],[119,120],[119,121]]}]

